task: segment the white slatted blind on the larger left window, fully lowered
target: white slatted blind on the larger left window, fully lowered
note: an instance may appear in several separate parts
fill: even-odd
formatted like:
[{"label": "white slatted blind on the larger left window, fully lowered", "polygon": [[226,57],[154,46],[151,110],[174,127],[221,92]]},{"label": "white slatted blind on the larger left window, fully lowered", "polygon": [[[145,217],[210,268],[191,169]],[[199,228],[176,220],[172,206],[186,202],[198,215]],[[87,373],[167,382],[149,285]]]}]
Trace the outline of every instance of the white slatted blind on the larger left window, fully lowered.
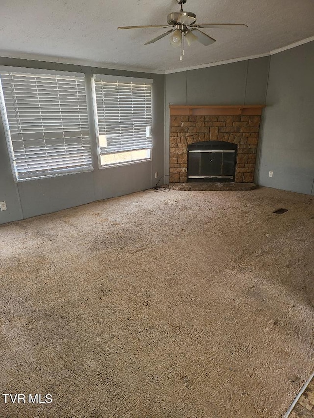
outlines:
[{"label": "white slatted blind on the larger left window, fully lowered", "polygon": [[1,85],[17,180],[93,169],[84,77],[0,72]]}]

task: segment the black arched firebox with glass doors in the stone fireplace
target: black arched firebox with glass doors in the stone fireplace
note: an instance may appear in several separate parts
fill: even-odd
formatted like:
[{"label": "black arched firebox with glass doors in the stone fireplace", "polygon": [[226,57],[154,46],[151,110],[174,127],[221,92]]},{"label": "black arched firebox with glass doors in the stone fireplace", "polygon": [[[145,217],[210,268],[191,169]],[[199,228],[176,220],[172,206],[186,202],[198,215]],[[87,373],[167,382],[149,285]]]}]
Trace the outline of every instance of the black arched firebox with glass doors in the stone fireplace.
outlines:
[{"label": "black arched firebox with glass doors in the stone fireplace", "polygon": [[188,182],[235,181],[237,144],[203,141],[189,144]]}]

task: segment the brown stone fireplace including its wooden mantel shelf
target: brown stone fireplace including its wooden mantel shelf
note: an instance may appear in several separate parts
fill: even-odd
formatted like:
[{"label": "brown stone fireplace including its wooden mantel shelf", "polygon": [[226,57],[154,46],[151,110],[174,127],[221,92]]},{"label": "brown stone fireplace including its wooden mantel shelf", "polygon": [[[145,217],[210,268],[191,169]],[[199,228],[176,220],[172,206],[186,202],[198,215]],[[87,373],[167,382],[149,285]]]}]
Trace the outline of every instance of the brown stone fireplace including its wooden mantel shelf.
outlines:
[{"label": "brown stone fireplace including its wooden mantel shelf", "polygon": [[[170,106],[170,183],[194,181],[234,181],[252,183],[254,179],[256,150],[262,108],[264,106]],[[188,176],[188,149],[197,148],[197,143],[214,141],[231,143],[235,147],[235,172],[233,176],[205,175]],[[201,144],[200,144],[201,145]],[[201,149],[202,147],[198,147]],[[226,148],[226,147],[219,147]],[[224,149],[217,149],[223,152]],[[200,152],[200,151],[198,151]],[[205,151],[204,151],[205,152]],[[210,151],[206,151],[210,152]],[[224,152],[231,152],[224,151]],[[212,154],[215,155],[215,154]],[[219,156],[228,163],[231,155]],[[215,155],[216,159],[218,154]],[[193,156],[194,157],[194,156]],[[203,158],[204,160],[204,158]],[[206,161],[206,160],[205,160]],[[211,158],[214,161],[214,158]],[[193,162],[195,166],[195,163]],[[204,165],[204,163],[203,163]],[[217,165],[217,164],[216,164]],[[190,172],[191,170],[189,170]],[[195,170],[194,170],[195,171]],[[205,169],[205,173],[210,170]],[[228,173],[227,173],[228,174]],[[229,180],[227,179],[229,177]],[[231,179],[232,177],[232,179]],[[221,180],[219,180],[221,178]]]}]

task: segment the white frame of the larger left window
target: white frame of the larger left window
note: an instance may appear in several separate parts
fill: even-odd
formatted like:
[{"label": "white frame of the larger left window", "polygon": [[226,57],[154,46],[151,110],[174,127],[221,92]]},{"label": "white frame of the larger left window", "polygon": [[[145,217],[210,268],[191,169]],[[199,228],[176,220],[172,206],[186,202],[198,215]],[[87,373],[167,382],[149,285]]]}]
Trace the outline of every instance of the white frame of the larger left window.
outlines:
[{"label": "white frame of the larger left window", "polygon": [[[85,97],[86,97],[86,108],[87,108],[87,116],[89,120],[89,109],[88,109],[88,95],[87,95],[87,86],[86,86],[86,74],[85,72],[73,72],[73,71],[59,71],[59,70],[49,70],[49,69],[40,69],[40,68],[29,68],[29,67],[11,67],[11,66],[0,66],[0,72],[5,73],[21,73],[21,74],[39,74],[39,75],[56,75],[56,76],[68,76],[68,77],[80,77],[84,78],[84,86],[85,86]],[[13,143],[11,139],[11,132],[10,132],[10,125],[8,121],[8,115],[5,105],[5,99],[4,99],[4,93],[2,89],[2,83],[0,83],[0,116],[2,119],[5,139],[7,143],[7,149],[9,153],[9,159],[10,159],[10,165],[11,170],[13,173],[13,178],[15,183],[21,183],[24,181],[31,181],[31,180],[42,180],[45,178],[52,178],[52,177],[60,177],[63,175],[69,175],[69,174],[79,174],[83,172],[92,172],[94,170],[93,167],[93,145],[92,145],[92,136],[90,131],[90,126],[88,123],[88,132],[89,132],[89,141],[90,141],[90,155],[91,155],[91,165],[86,166],[85,168],[77,170],[77,168],[69,168],[67,172],[54,172],[52,174],[45,174],[45,175],[38,175],[36,177],[26,177],[26,178],[18,178],[18,172],[16,169],[15,164],[15,154],[13,149]]]}]

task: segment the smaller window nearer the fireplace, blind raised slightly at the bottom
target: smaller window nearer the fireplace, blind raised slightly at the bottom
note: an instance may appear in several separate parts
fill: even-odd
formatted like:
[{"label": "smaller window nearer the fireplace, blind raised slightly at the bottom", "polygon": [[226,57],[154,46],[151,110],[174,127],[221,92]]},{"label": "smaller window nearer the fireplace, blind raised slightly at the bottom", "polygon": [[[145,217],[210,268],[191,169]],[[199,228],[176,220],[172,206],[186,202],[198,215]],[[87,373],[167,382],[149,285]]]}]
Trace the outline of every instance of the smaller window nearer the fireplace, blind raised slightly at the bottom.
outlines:
[{"label": "smaller window nearer the fireplace, blind raised slightly at the bottom", "polygon": [[101,167],[151,158],[152,82],[95,75]]}]

